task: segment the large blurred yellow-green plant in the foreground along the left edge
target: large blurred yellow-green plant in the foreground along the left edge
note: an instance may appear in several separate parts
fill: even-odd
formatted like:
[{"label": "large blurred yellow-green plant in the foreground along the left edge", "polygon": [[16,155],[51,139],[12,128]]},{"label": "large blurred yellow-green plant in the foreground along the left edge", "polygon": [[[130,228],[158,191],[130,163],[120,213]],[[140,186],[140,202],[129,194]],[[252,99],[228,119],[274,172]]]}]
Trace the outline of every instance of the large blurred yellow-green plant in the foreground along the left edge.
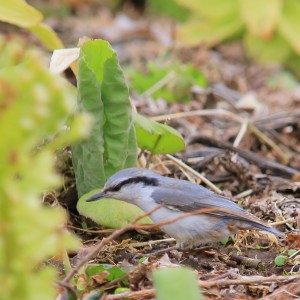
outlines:
[{"label": "large blurred yellow-green plant in the foreground along the left edge", "polygon": [[37,51],[0,40],[0,282],[1,299],[54,299],[54,270],[44,260],[63,256],[77,241],[61,209],[41,203],[61,184],[57,147],[84,136],[90,119],[74,115],[70,85],[49,73]]}]

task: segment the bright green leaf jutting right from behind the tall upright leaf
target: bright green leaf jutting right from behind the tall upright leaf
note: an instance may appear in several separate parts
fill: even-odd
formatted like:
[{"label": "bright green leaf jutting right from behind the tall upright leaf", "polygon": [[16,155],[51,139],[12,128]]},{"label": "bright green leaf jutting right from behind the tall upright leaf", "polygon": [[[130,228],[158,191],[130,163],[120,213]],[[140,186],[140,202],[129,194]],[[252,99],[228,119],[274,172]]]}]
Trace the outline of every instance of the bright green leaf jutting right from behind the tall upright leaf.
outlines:
[{"label": "bright green leaf jutting right from behind the tall upright leaf", "polygon": [[170,126],[133,114],[138,145],[151,153],[166,154],[184,150],[185,143],[181,134]]}]

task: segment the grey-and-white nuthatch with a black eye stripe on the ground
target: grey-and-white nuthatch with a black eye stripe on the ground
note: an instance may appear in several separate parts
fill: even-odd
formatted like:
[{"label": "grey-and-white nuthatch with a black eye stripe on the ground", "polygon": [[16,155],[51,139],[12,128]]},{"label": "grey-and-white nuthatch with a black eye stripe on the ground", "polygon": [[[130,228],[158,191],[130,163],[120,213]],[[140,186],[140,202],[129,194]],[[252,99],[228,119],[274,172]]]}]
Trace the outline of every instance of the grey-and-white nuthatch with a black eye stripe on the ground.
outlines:
[{"label": "grey-and-white nuthatch with a black eye stripe on the ground", "polygon": [[[191,249],[221,241],[239,230],[259,229],[277,237],[284,234],[261,221],[228,198],[187,180],[165,177],[143,168],[127,168],[113,174],[101,192],[86,201],[113,198],[134,204],[153,223],[177,219],[160,229],[173,237],[179,249]],[[155,210],[156,208],[156,210]],[[192,215],[200,209],[211,209]],[[207,210],[209,211],[209,210]]]}]

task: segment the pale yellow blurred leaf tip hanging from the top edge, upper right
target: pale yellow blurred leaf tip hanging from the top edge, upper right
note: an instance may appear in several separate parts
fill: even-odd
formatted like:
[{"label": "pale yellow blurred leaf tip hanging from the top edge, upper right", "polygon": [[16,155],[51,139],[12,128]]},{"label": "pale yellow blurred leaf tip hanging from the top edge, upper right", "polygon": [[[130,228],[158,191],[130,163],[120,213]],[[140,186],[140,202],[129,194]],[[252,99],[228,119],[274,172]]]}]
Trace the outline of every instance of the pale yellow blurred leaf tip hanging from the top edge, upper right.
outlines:
[{"label": "pale yellow blurred leaf tip hanging from the top edge, upper right", "polygon": [[282,0],[239,0],[241,16],[250,33],[271,38],[281,13]]}]

